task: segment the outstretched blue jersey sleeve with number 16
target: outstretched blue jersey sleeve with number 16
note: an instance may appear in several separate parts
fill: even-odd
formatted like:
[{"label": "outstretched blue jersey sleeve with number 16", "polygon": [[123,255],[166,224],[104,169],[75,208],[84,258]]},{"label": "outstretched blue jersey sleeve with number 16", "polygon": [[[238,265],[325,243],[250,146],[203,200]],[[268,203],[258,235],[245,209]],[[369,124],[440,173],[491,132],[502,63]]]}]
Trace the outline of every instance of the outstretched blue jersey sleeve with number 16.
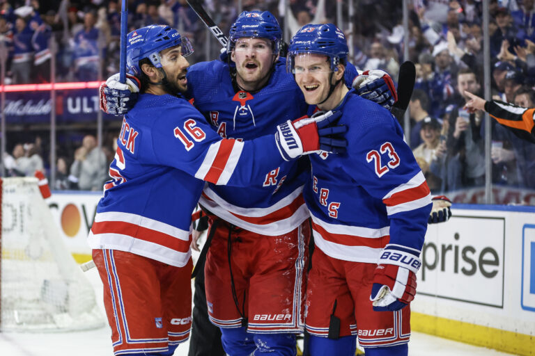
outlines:
[{"label": "outstretched blue jersey sleeve with number 16", "polygon": [[284,161],[274,134],[240,142],[219,136],[193,107],[170,109],[164,115],[153,127],[155,156],[162,165],[198,179],[230,186],[262,184]]}]

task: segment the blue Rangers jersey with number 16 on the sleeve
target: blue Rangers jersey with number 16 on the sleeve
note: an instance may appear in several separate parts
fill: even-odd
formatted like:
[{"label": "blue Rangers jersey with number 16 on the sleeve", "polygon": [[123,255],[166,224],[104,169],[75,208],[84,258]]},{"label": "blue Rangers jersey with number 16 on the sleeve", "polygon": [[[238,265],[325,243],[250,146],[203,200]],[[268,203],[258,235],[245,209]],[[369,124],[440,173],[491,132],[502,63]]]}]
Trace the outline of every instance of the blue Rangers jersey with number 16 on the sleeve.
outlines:
[{"label": "blue Rangers jersey with number 16 on the sleeve", "polygon": [[185,266],[204,181],[249,186],[283,162],[265,133],[254,142],[223,139],[185,99],[140,95],[123,120],[89,245]]}]

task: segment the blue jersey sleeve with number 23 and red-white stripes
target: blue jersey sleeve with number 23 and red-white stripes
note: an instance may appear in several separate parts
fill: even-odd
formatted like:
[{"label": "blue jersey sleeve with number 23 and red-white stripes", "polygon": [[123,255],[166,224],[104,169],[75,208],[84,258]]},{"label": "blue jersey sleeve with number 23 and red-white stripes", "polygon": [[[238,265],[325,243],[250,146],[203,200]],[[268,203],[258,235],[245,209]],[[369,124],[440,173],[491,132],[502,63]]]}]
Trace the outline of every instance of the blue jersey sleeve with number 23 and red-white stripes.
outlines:
[{"label": "blue jersey sleeve with number 23 and red-white stripes", "polygon": [[401,127],[387,117],[390,114],[385,109],[378,107],[364,115],[369,115],[364,122],[375,124],[358,128],[362,132],[354,139],[358,145],[350,147],[350,164],[343,169],[369,195],[385,204],[390,222],[389,245],[410,248],[419,254],[432,205],[424,173],[403,140]]}]

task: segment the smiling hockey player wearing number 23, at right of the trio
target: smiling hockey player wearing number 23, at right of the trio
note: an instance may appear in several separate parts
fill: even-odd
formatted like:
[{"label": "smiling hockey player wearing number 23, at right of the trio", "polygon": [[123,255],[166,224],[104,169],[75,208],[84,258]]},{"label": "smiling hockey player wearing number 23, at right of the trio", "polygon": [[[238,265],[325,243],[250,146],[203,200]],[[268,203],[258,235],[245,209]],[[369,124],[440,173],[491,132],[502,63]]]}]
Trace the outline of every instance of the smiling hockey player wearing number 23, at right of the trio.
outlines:
[{"label": "smiling hockey player wearing number 23, at right of the trio", "polygon": [[347,54],[334,24],[304,26],[288,49],[307,103],[341,111],[348,127],[347,154],[309,155],[308,346],[313,356],[352,356],[358,336],[366,356],[407,355],[431,194],[391,113],[343,85]]}]

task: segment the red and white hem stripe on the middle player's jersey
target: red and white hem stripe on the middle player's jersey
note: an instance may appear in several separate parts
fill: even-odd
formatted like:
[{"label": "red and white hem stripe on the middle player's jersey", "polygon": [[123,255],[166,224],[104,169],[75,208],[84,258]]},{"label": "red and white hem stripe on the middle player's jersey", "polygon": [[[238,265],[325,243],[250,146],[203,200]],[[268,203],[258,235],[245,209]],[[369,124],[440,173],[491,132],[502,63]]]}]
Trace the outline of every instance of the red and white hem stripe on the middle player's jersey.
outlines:
[{"label": "red and white hem stripe on the middle player's jersey", "polygon": [[205,186],[199,203],[209,211],[242,229],[267,236],[286,234],[309,218],[302,196],[303,186],[270,207],[245,208],[226,202],[209,186]]}]

